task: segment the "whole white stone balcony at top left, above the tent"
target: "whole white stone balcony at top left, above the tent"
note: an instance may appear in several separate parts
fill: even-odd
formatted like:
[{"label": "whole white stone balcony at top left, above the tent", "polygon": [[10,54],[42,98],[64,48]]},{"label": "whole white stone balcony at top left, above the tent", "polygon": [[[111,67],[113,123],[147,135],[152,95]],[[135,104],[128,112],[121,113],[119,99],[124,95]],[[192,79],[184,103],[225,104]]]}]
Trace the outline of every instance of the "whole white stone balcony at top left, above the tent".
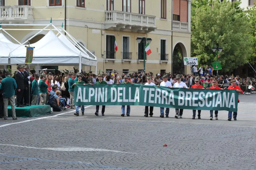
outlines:
[{"label": "whole white stone balcony at top left, above the tent", "polygon": [[0,22],[2,23],[23,24],[28,19],[34,19],[32,6],[0,6]]}]

